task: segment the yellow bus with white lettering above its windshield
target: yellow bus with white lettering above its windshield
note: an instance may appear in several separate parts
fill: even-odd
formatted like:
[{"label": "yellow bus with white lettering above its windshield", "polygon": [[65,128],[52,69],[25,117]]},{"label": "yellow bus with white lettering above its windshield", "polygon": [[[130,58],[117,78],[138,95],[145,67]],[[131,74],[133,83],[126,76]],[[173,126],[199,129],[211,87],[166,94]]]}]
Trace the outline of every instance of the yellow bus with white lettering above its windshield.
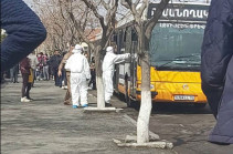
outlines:
[{"label": "yellow bus with white lettering above its windshield", "polygon": [[[150,3],[148,18],[157,3]],[[201,44],[209,4],[170,3],[165,9],[150,40],[150,80],[152,102],[193,103],[204,107],[201,90]],[[130,17],[118,22],[113,41],[117,53],[137,53],[137,32]],[[116,65],[115,92],[124,94],[127,105],[140,101],[141,68],[139,60]]]}]

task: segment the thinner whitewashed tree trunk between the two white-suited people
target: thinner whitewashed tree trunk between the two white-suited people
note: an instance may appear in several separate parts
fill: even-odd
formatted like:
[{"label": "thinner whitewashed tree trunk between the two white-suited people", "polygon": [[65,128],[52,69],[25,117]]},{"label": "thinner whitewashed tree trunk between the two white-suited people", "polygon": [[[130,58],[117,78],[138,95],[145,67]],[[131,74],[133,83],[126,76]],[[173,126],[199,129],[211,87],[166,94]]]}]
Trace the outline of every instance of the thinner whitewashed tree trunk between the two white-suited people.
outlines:
[{"label": "thinner whitewashed tree trunk between the two white-suited people", "polygon": [[97,107],[105,107],[104,100],[104,84],[102,78],[102,48],[97,47],[95,50],[95,69],[96,69],[96,88],[97,88]]}]

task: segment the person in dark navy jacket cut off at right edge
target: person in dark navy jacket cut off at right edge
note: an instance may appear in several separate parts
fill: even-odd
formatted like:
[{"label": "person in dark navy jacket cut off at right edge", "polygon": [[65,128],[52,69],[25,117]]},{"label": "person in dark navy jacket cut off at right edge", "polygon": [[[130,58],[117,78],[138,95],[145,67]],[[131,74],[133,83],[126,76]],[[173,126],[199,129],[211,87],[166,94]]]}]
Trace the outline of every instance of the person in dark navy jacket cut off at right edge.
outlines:
[{"label": "person in dark navy jacket cut off at right edge", "polygon": [[233,144],[233,1],[212,0],[201,57],[202,90],[216,125],[215,144]]}]

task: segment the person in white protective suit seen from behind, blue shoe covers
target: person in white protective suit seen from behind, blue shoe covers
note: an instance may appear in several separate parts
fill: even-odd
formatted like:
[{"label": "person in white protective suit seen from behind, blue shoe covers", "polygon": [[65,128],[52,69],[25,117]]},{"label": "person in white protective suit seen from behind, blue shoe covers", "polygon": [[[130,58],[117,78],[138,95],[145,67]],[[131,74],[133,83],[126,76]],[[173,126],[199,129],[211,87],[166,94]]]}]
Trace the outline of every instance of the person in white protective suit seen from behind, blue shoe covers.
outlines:
[{"label": "person in white protective suit seen from behind, blue shoe covers", "polygon": [[[78,44],[73,49],[73,53],[66,64],[65,69],[71,70],[71,93],[73,105],[87,105],[87,83],[91,79],[89,64],[87,59],[82,54],[83,48]],[[80,102],[81,97],[81,102]]]}]

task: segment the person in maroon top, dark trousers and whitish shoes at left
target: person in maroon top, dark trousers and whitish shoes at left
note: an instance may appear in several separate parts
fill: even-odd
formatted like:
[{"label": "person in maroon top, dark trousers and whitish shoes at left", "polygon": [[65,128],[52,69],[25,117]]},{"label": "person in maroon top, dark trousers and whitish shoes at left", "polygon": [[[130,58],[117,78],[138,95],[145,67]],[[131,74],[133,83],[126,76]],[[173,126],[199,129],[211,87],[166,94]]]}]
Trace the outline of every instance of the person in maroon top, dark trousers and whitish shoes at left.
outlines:
[{"label": "person in maroon top, dark trousers and whitish shoes at left", "polygon": [[27,99],[27,96],[29,95],[29,89],[28,89],[28,83],[29,83],[29,75],[30,75],[30,59],[29,58],[24,58],[21,62],[20,62],[20,71],[22,74],[22,89],[21,89],[21,102],[30,102],[29,99]]}]

